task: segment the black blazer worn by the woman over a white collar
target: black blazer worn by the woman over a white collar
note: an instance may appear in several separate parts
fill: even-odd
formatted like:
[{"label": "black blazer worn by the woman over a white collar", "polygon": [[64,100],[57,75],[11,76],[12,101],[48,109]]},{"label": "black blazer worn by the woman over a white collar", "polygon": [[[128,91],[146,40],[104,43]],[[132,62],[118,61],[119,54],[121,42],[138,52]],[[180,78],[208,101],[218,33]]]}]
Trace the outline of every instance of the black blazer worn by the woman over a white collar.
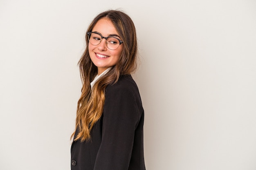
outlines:
[{"label": "black blazer worn by the woman over a white collar", "polygon": [[72,143],[71,170],[145,170],[144,110],[132,76],[123,75],[108,85],[105,96],[91,140]]}]

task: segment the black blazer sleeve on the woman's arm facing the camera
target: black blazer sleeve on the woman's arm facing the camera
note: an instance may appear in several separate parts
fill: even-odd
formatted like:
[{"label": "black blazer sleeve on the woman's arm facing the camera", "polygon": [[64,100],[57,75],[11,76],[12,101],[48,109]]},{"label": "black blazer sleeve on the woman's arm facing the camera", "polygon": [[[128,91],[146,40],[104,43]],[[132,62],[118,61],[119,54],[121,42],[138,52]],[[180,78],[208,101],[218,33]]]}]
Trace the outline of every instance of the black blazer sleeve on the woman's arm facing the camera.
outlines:
[{"label": "black blazer sleeve on the woman's arm facing the camera", "polygon": [[135,129],[141,117],[141,101],[127,88],[108,92],[103,109],[102,141],[94,170],[128,170]]}]

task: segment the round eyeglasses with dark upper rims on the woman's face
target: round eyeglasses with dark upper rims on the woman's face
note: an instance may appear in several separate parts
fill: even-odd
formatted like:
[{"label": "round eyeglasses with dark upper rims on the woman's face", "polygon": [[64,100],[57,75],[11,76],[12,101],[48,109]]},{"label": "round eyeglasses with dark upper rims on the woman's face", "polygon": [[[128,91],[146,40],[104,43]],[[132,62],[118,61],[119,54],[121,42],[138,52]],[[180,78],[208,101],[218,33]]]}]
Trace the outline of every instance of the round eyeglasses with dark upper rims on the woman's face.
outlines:
[{"label": "round eyeglasses with dark upper rims on the woman's face", "polygon": [[105,38],[106,45],[110,50],[117,49],[119,45],[123,43],[123,41],[119,40],[114,36],[103,37],[100,33],[97,33],[97,32],[87,32],[87,35],[88,35],[88,40],[92,45],[98,45],[99,43],[101,43],[101,40]]}]

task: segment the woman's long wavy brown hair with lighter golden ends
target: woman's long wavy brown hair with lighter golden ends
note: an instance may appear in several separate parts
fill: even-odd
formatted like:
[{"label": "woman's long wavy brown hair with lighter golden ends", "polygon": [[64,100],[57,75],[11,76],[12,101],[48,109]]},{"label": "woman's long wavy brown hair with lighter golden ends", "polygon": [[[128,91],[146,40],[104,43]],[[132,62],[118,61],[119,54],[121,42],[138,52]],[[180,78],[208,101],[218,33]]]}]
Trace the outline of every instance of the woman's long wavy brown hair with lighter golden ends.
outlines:
[{"label": "woman's long wavy brown hair with lighter golden ends", "polygon": [[[128,75],[137,67],[137,36],[135,26],[131,18],[122,11],[108,10],[97,15],[88,27],[87,32],[92,31],[95,24],[101,18],[108,18],[115,26],[124,48],[115,66],[101,77],[91,88],[90,82],[97,75],[97,66],[92,63],[88,51],[88,35],[85,35],[86,49],[78,62],[82,80],[82,94],[77,103],[76,130],[74,141],[86,141],[90,139],[90,132],[94,124],[100,119],[105,102],[105,89],[109,84],[115,84],[120,75]],[[72,134],[73,137],[75,132]]]}]

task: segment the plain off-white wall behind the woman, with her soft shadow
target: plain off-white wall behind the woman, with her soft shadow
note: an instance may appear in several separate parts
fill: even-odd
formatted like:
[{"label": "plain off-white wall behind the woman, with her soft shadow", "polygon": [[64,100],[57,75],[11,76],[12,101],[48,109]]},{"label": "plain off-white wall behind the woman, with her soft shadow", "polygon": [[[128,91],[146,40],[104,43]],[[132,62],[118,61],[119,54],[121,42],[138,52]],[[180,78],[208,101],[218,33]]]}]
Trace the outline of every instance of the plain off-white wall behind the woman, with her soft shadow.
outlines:
[{"label": "plain off-white wall behind the woman, with her soft shadow", "polygon": [[147,170],[256,170],[255,0],[0,0],[0,170],[70,170],[88,24],[122,9]]}]

